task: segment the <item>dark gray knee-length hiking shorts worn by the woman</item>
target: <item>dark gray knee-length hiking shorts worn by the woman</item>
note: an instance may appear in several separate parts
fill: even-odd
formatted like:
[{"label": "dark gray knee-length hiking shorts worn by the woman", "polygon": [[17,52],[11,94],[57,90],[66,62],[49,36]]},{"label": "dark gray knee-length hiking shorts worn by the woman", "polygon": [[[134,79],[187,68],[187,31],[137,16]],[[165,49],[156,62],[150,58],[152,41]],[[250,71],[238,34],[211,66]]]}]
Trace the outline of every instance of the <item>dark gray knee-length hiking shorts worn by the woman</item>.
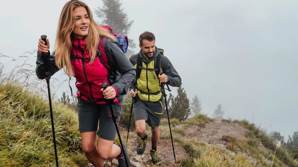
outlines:
[{"label": "dark gray knee-length hiking shorts worn by the woman", "polygon": [[[77,106],[80,132],[97,131],[97,127],[99,126],[99,130],[97,131],[98,137],[110,141],[115,140],[117,130],[109,105],[89,103],[78,98]],[[113,104],[113,109],[116,115],[117,125],[119,125],[122,106],[120,103],[115,103]]]}]

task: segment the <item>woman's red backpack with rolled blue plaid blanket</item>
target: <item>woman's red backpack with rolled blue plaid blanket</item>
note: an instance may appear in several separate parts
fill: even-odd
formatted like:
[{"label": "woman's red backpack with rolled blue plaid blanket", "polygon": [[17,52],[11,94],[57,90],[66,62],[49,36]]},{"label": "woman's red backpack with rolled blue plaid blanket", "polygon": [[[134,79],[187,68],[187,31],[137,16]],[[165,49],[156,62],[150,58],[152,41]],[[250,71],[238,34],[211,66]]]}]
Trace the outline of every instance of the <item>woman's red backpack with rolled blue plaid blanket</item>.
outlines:
[{"label": "woman's red backpack with rolled blue plaid blanket", "polygon": [[[119,34],[116,34],[115,31],[113,31],[111,29],[111,27],[107,26],[107,25],[101,25],[100,27],[104,28],[104,29],[107,29],[110,31],[110,33],[112,35],[114,35],[116,38],[117,38],[117,41],[118,41],[118,44],[119,44],[119,47],[121,48],[121,50],[123,51],[123,53],[126,53],[127,52],[127,48],[128,48],[128,37],[127,35],[119,35]],[[106,40],[106,37],[101,37],[100,38],[100,43],[98,45],[98,49],[99,51],[97,52],[97,56],[98,58],[100,59],[100,62],[103,64],[103,66],[108,70],[108,71],[112,71],[113,72],[113,80],[112,80],[112,83],[115,83],[116,82],[116,78],[117,78],[117,74],[120,75],[120,73],[116,70],[116,68],[113,69],[113,67],[111,67],[110,65],[110,62],[111,62],[111,58],[108,57],[105,53],[105,46],[104,46],[104,43],[105,43],[105,40]],[[72,94],[72,87],[70,86],[70,80],[71,80],[71,77],[69,77],[69,88],[70,88],[70,91],[71,91],[71,94]]]}]

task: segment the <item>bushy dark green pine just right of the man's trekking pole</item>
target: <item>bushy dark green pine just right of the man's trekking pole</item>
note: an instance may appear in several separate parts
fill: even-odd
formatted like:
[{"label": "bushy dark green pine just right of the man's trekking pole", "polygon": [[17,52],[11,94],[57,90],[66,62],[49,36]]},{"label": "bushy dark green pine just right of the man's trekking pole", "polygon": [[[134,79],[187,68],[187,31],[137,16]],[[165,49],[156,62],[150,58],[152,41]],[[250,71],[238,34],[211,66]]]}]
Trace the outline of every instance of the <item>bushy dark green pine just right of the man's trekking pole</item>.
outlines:
[{"label": "bushy dark green pine just right of the man's trekking pole", "polygon": [[181,86],[178,87],[178,94],[175,98],[169,98],[171,100],[171,105],[169,106],[169,117],[177,118],[179,121],[185,121],[190,113],[189,108],[189,99],[187,98],[187,94],[184,88]]}]

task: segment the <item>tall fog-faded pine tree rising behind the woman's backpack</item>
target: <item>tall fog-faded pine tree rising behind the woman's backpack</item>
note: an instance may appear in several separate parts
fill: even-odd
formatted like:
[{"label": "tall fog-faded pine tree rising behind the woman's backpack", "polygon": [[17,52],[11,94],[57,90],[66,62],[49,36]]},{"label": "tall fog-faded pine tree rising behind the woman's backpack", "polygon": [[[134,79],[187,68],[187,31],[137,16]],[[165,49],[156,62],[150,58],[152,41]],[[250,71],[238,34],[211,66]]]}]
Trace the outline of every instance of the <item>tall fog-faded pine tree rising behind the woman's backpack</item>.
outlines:
[{"label": "tall fog-faded pine tree rising behind the woman's backpack", "polygon": [[[103,0],[103,7],[97,7],[95,14],[98,18],[102,18],[101,25],[108,25],[111,27],[116,34],[125,34],[128,35],[131,25],[134,23],[134,20],[128,21],[127,14],[121,9],[122,3],[119,0]],[[125,55],[130,57],[134,54],[134,48],[136,44],[134,40],[128,38],[128,49]]]}]

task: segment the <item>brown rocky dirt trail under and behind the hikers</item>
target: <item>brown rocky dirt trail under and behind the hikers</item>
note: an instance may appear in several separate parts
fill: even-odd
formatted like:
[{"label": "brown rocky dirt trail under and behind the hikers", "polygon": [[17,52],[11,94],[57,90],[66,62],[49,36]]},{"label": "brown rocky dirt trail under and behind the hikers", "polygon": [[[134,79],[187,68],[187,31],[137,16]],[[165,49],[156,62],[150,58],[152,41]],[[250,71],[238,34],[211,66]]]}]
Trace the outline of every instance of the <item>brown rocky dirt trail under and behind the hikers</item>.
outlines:
[{"label": "brown rocky dirt trail under and behind the hikers", "polygon": [[[165,127],[164,127],[165,128]],[[168,127],[167,127],[168,128]],[[180,130],[179,132],[173,132],[173,129],[180,129],[183,128],[184,130]],[[126,136],[124,134],[127,133],[126,129],[123,127],[119,127],[120,132],[123,134],[122,141],[126,140]],[[238,123],[229,122],[229,120],[222,120],[219,121],[211,121],[207,123],[195,123],[193,125],[186,125],[186,124],[179,124],[172,127],[173,135],[179,136],[181,138],[187,139],[195,139],[200,143],[205,143],[209,146],[221,146],[222,148],[226,148],[229,144],[228,137],[236,138],[238,141],[246,138],[247,129],[240,126]],[[147,132],[150,133],[150,129],[147,129]],[[131,134],[132,133],[132,134]],[[162,130],[161,130],[161,133]],[[132,136],[132,137],[131,137]],[[151,149],[151,135],[148,135],[148,144],[146,146],[145,152],[143,155],[138,155],[136,153],[136,147],[139,143],[139,138],[136,136],[134,131],[130,132],[130,137],[128,138],[128,154],[130,155],[131,160],[131,167],[181,167],[179,162],[175,163],[174,156],[173,156],[173,148],[170,139],[160,138],[159,146],[157,147],[157,151],[159,155],[163,158],[163,163],[159,165],[154,165],[151,162],[150,157],[150,149]],[[261,149],[265,149],[266,151],[272,152],[269,149],[266,149],[262,146],[261,142],[259,142]],[[185,159],[188,157],[187,152],[179,144],[179,142],[174,140],[174,148],[175,148],[175,155],[176,161],[179,159]],[[231,152],[234,156],[235,153]],[[244,153],[243,155],[246,156]],[[252,162],[256,163],[253,157],[249,158]],[[90,166],[92,166],[90,164]],[[117,159],[106,160],[105,161],[106,167],[117,167],[118,162]]]}]

